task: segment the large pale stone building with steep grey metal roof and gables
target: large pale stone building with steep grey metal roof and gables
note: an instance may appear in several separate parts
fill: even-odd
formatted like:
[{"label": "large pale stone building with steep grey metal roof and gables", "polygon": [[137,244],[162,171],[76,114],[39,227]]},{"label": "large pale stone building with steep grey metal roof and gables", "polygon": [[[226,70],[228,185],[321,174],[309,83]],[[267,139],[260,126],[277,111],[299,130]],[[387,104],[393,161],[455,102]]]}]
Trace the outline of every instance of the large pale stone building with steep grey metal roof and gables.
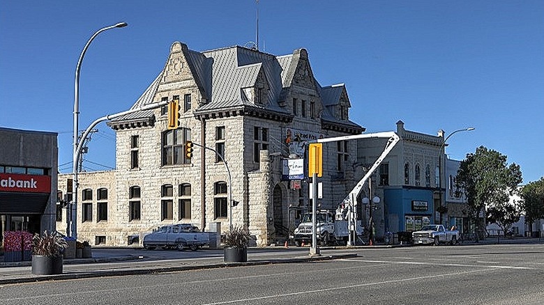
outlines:
[{"label": "large pale stone building with steep grey metal roof and gables", "polygon": [[[126,245],[165,224],[208,230],[218,222],[224,231],[232,221],[249,228],[257,245],[278,242],[312,204],[307,144],[364,131],[349,120],[345,85],[321,86],[305,49],[285,56],[239,46],[196,52],[175,42],[133,108],[171,100],[180,102],[174,130],[167,107],[108,123],[116,131],[116,170],[80,173],[80,240]],[[190,158],[186,141],[195,144]],[[335,208],[353,187],[355,155],[354,141],[324,146],[321,208]],[[59,178],[60,191],[68,178]],[[230,198],[238,204],[231,207]]]}]

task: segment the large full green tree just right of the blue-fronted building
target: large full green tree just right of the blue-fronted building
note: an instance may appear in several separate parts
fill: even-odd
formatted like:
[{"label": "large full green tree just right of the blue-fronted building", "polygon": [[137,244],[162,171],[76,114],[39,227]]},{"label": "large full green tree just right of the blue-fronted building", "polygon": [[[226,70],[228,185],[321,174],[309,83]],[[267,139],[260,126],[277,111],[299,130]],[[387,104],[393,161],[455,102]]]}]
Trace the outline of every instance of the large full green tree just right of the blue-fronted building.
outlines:
[{"label": "large full green tree just right of the blue-fronted building", "polygon": [[456,178],[460,193],[467,198],[471,222],[478,230],[483,230],[479,214],[486,208],[486,218],[499,221],[499,226],[511,222],[515,214],[519,217],[520,209],[508,206],[510,196],[521,182],[520,166],[506,164],[505,155],[483,146],[476,148],[476,153],[467,154]]}]

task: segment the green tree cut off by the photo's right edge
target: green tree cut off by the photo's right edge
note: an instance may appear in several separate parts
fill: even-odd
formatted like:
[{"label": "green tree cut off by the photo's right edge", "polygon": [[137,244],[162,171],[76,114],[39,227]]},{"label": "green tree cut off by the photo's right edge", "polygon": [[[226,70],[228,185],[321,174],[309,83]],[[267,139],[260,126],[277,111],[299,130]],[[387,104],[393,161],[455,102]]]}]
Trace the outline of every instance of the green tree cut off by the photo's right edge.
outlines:
[{"label": "green tree cut off by the photo's right edge", "polygon": [[525,212],[525,223],[532,228],[534,221],[544,219],[544,177],[522,187],[520,196]]}]

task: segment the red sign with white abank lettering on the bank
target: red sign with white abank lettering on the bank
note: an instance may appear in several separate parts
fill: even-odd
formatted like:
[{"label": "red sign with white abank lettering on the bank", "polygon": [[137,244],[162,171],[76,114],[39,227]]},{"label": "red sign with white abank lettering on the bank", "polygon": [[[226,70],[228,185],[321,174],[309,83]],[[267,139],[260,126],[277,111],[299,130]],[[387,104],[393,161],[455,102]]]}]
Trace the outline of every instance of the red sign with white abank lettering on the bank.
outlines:
[{"label": "red sign with white abank lettering on the bank", "polygon": [[48,175],[0,173],[0,191],[50,193],[51,177]]}]

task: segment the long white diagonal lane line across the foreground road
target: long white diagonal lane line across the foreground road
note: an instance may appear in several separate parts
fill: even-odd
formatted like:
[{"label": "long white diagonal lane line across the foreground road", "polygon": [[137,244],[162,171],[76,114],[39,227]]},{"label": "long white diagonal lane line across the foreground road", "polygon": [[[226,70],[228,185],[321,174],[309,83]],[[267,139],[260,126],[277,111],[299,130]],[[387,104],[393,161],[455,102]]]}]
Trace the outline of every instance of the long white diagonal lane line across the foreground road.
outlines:
[{"label": "long white diagonal lane line across the foreground road", "polygon": [[363,283],[363,284],[357,284],[357,285],[349,285],[349,286],[338,286],[338,287],[331,287],[331,288],[324,288],[324,289],[318,289],[318,290],[305,290],[305,291],[299,291],[299,292],[290,292],[290,293],[282,293],[278,295],[266,295],[263,297],[250,297],[246,299],[233,299],[230,301],[223,301],[223,302],[216,302],[216,303],[206,303],[203,305],[220,305],[220,304],[234,304],[234,303],[245,303],[250,301],[257,301],[259,299],[273,299],[276,297],[292,297],[294,295],[305,295],[310,293],[317,293],[317,292],[328,292],[328,291],[334,291],[334,290],[346,290],[346,289],[352,289],[352,288],[361,288],[366,286],[377,286],[382,284],[390,284],[390,283],[400,283],[405,281],[417,281],[417,280],[423,280],[423,279],[433,279],[437,277],[444,277],[444,276],[455,276],[455,275],[461,275],[461,274],[469,274],[469,273],[476,273],[476,272],[485,272],[493,270],[492,268],[489,269],[481,269],[481,270],[471,270],[471,271],[465,271],[465,272],[455,272],[450,274],[437,274],[437,275],[430,275],[430,276],[418,276],[413,277],[411,279],[397,279],[397,280],[391,280],[391,281],[379,281],[374,283]]}]

